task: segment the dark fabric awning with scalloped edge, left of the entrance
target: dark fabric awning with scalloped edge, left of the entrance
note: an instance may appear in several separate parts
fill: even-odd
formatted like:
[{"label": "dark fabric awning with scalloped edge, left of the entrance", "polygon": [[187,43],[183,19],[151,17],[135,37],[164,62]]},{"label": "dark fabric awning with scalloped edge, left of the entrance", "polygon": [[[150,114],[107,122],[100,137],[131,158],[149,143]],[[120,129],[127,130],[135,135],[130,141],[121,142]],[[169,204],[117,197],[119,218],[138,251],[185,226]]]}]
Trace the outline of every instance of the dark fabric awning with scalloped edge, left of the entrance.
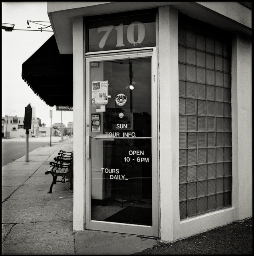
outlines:
[{"label": "dark fabric awning with scalloped edge, left of the entrance", "polygon": [[73,106],[73,56],[60,54],[53,35],[22,64],[22,79],[49,106]]}]

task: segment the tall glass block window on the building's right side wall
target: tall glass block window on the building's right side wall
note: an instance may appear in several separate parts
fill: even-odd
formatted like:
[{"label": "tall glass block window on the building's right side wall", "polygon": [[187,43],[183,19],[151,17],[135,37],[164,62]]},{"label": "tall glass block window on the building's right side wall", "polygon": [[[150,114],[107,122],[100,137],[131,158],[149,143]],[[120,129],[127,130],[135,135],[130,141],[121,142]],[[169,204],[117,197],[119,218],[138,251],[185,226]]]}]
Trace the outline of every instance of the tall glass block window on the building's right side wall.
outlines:
[{"label": "tall glass block window on the building's right side wall", "polygon": [[179,14],[180,218],[231,205],[231,40]]}]

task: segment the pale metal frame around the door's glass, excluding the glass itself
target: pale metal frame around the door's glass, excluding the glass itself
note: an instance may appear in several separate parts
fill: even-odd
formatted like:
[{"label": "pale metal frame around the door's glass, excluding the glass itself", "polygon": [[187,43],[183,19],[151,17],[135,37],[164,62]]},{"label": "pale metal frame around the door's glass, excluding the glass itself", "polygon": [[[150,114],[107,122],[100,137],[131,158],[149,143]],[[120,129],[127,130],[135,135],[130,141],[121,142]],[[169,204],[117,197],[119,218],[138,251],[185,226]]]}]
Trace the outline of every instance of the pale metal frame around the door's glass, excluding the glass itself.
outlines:
[{"label": "pale metal frame around the door's glass, excluding the glass itself", "polygon": [[[152,220],[153,226],[133,224],[121,225],[112,222],[91,220],[91,62],[107,60],[120,60],[131,58],[151,57],[151,106],[152,106]],[[141,50],[128,50],[125,52],[108,52],[107,54],[93,54],[85,58],[85,149],[86,149],[86,203],[85,203],[85,229],[101,230],[123,234],[159,237],[159,184],[158,184],[158,100],[157,100],[157,50],[155,47]]]}]

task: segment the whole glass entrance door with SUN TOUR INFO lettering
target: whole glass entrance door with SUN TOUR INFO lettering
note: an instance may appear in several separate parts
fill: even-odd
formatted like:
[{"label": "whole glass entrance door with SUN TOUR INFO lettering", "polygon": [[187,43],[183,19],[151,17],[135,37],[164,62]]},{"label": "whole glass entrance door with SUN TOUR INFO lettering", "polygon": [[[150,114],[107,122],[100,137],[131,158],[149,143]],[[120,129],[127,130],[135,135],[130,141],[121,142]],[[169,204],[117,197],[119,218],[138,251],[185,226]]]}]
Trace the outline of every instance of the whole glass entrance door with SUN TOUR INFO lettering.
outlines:
[{"label": "whole glass entrance door with SUN TOUR INFO lettering", "polygon": [[158,236],[154,58],[87,58],[87,229]]}]

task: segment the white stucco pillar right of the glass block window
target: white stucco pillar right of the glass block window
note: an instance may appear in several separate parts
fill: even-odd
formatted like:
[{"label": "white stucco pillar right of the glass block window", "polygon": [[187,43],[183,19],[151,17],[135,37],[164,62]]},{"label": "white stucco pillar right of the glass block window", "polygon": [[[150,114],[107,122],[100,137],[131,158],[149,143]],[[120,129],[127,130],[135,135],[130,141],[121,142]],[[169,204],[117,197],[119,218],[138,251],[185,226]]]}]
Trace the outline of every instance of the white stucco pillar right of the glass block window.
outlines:
[{"label": "white stucco pillar right of the glass block window", "polygon": [[252,42],[232,43],[232,204],[235,220],[252,216]]}]

